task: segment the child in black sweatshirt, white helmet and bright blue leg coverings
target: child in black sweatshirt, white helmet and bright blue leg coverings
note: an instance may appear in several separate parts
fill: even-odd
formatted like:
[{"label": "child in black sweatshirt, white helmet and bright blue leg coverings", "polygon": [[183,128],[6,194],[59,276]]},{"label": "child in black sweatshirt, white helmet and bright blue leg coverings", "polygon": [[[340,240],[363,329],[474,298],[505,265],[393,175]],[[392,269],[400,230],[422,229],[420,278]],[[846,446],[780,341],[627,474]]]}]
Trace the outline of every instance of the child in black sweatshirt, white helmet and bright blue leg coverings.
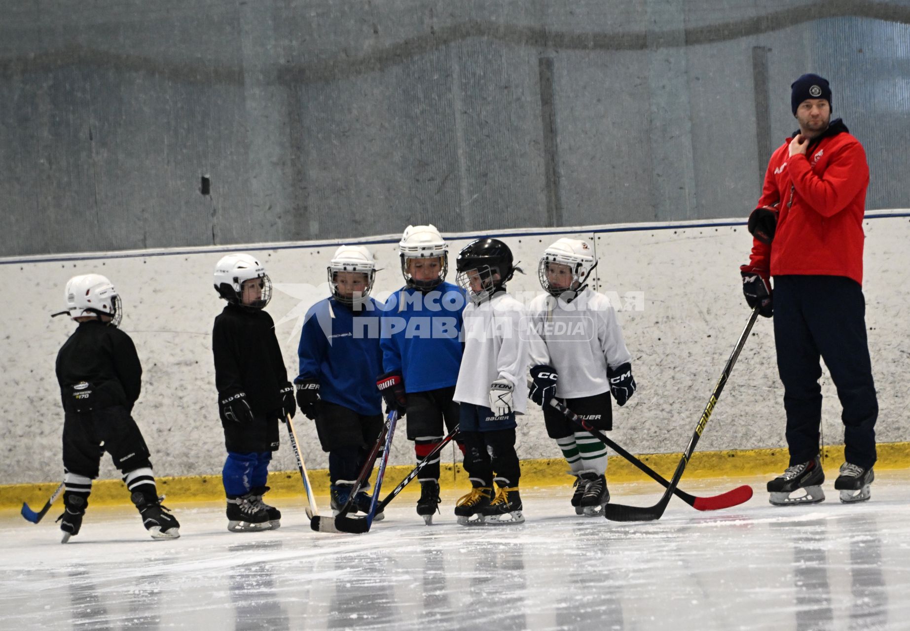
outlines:
[{"label": "child in black sweatshirt, white helmet and bright blue leg coverings", "polygon": [[227,530],[268,530],[281,512],[268,506],[268,463],[278,450],[278,421],[294,416],[294,390],[263,308],[272,295],[266,268],[248,254],[224,256],[215,266],[215,289],[227,300],[215,318],[212,350],[218,409],[227,460],[221,478],[227,495]]}]

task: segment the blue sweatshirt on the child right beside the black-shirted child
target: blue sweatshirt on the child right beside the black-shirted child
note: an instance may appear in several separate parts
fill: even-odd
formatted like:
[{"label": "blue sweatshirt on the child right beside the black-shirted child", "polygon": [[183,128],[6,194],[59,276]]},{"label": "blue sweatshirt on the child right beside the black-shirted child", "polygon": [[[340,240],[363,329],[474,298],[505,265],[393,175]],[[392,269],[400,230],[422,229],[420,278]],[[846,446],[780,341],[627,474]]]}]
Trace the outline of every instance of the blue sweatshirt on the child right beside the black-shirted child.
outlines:
[{"label": "blue sweatshirt on the child right beside the black-shirted child", "polygon": [[[300,332],[300,375],[319,379],[319,396],[362,415],[382,414],[376,377],[382,374],[379,348],[379,304],[356,315],[335,298],[309,307]],[[370,308],[372,307],[372,308]]]}]

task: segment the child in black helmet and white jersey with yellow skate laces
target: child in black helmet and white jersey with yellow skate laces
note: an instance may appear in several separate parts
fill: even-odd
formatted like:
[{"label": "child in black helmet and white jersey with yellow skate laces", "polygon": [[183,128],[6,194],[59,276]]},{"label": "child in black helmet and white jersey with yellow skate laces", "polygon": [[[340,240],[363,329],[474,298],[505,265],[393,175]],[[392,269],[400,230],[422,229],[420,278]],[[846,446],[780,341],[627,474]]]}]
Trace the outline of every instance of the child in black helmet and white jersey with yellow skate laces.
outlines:
[{"label": "child in black helmet and white jersey with yellow skate laces", "polygon": [[[521,524],[521,469],[515,453],[515,415],[524,414],[528,345],[520,330],[523,308],[506,293],[517,269],[508,245],[479,239],[461,250],[458,283],[470,292],[464,310],[464,356],[455,386],[465,469],[472,489],[455,515],[462,525]],[[493,482],[500,486],[493,497]]]}]

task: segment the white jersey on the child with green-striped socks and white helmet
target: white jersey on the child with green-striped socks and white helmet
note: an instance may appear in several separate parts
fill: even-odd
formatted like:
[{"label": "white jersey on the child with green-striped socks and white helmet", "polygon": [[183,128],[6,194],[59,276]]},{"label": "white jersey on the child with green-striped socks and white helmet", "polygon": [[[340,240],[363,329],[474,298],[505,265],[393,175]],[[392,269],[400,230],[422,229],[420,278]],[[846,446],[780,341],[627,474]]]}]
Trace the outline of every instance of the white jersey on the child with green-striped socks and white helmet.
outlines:
[{"label": "white jersey on the child with green-striped socks and white helmet", "polygon": [[591,289],[568,304],[539,295],[528,307],[528,320],[531,366],[556,368],[556,396],[561,398],[608,392],[607,366],[632,361],[610,300]]}]

